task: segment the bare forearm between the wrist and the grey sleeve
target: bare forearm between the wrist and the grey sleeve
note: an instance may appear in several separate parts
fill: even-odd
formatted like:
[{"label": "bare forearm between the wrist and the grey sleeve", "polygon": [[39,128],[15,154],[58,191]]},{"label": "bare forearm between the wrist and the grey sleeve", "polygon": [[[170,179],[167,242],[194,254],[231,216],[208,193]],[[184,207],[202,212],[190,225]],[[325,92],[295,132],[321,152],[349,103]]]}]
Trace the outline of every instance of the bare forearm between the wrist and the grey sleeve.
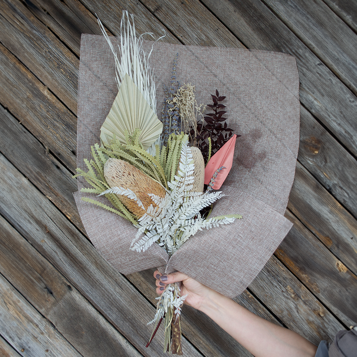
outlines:
[{"label": "bare forearm between the wrist and the grey sleeve", "polygon": [[199,310],[256,357],[313,357],[316,346],[294,331],[275,325],[211,291]]}]

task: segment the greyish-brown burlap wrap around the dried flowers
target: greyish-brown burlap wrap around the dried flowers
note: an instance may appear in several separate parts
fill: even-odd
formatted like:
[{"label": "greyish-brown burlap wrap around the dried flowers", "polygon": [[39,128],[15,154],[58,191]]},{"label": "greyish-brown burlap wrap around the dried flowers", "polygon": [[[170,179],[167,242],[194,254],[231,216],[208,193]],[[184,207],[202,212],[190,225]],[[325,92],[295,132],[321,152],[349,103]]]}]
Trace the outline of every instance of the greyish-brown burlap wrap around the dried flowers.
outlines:
[{"label": "greyish-brown burlap wrap around the dried flowers", "polygon": [[[146,53],[151,46],[144,42]],[[81,192],[74,196],[88,237],[121,273],[152,267],[167,273],[179,270],[234,297],[259,273],[292,226],[283,215],[299,143],[296,62],[282,53],[158,42],[150,65],[155,68],[159,117],[176,53],[176,78],[195,86],[198,104],[209,104],[216,89],[226,96],[228,126],[242,137],[237,138],[233,168],[220,189],[227,196],[215,203],[212,215],[241,214],[243,219],[198,232],[168,260],[157,244],[141,253],[130,250],[137,231],[131,223],[84,202]],[[82,35],[77,163],[83,169],[83,159],[91,158],[90,146],[99,142],[100,126],[117,94],[114,76],[113,55],[104,37]],[[79,191],[84,186],[84,180],[78,180]]]}]

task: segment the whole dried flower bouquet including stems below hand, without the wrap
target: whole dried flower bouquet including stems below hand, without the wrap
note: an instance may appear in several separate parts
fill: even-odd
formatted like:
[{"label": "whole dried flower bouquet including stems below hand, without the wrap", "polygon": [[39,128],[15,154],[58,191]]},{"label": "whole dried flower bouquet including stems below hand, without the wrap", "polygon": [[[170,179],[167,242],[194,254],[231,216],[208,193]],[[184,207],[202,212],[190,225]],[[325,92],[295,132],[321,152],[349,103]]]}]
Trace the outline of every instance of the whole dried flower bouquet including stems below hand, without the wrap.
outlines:
[{"label": "whole dried flower bouquet including stems below hand, without the wrap", "polygon": [[[210,177],[205,175],[204,168],[211,156],[212,143],[216,156],[227,154],[226,150],[218,151],[232,136],[232,130],[222,125],[225,112],[219,110],[224,108],[219,102],[224,97],[218,91],[216,96],[212,95],[214,104],[210,107],[214,113],[207,114],[206,121],[201,119],[197,125],[202,106],[196,104],[194,87],[177,85],[173,90],[174,81],[171,81],[162,124],[156,113],[155,82],[141,50],[141,38],[135,36],[133,20],[123,13],[120,57],[98,22],[115,57],[118,94],[100,128],[101,146],[97,143],[91,147],[92,159],[85,159],[88,171],[78,168],[75,177],[84,177],[91,186],[82,188],[82,192],[105,196],[110,205],[94,198],[83,200],[125,218],[138,228],[132,250],[140,253],[155,243],[164,247],[171,257],[198,231],[242,218],[240,215],[207,217],[207,208],[224,196],[213,188],[225,167],[213,165],[212,171],[211,165]],[[175,79],[176,63],[177,58],[172,79]],[[226,132],[225,136],[221,132]],[[235,138],[236,135],[234,142]],[[190,147],[189,141],[198,148]],[[234,144],[227,147],[233,152]],[[205,159],[200,148],[204,149]],[[229,158],[232,161],[232,155],[228,155],[228,161]],[[207,180],[203,192],[203,182]],[[151,321],[156,324],[152,339],[165,318],[164,350],[174,354],[182,354],[180,314],[184,299],[177,284],[168,285]]]}]

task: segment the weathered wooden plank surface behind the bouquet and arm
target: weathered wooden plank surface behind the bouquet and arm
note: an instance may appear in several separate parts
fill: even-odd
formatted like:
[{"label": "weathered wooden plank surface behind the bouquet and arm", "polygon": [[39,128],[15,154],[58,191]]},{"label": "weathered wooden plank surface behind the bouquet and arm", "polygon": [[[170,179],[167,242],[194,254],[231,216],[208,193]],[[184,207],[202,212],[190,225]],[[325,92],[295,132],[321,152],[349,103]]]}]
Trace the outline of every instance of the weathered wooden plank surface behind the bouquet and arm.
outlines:
[{"label": "weathered wooden plank surface behind the bouquet and arm", "polygon": [[[150,348],[152,271],[123,276],[85,235],[72,192],[82,33],[95,14],[119,34],[293,55],[300,149],[286,217],[294,226],[236,300],[318,344],[357,322],[355,0],[1,0],[0,355],[162,356]],[[219,272],[217,272],[219,273]],[[186,356],[249,356],[184,308]]]}]

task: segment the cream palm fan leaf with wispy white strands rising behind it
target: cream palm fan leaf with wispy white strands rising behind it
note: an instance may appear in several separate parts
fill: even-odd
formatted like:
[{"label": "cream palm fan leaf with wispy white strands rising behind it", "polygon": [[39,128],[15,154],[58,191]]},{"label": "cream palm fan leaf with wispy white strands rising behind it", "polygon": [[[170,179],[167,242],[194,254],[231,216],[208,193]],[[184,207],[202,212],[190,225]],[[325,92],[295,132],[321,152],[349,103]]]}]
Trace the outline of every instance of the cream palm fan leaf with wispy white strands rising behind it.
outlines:
[{"label": "cream palm fan leaf with wispy white strands rising behind it", "polygon": [[155,144],[160,141],[163,125],[156,114],[155,82],[148,59],[141,48],[142,39],[135,36],[133,16],[132,21],[133,24],[127,11],[123,11],[118,45],[119,61],[113,44],[98,19],[100,29],[114,54],[119,89],[113,106],[100,128],[100,140],[102,144],[108,145],[115,135],[116,139],[125,144],[125,132],[132,135],[135,129],[140,129],[141,145],[149,152],[155,152]]}]

